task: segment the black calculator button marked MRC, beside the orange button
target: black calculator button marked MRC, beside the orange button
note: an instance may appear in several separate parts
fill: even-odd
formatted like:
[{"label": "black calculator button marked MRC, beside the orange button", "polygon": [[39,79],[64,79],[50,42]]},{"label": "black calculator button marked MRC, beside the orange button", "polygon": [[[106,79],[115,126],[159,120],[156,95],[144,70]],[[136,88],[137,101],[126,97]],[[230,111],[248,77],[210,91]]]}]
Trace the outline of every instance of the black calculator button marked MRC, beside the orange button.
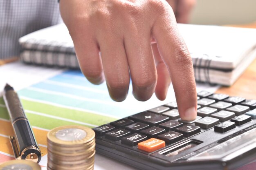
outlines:
[{"label": "black calculator button marked MRC, beside the orange button", "polygon": [[121,142],[122,144],[126,144],[128,146],[136,146],[139,142],[145,141],[146,139],[147,137],[145,135],[134,133],[132,135],[123,137]]}]

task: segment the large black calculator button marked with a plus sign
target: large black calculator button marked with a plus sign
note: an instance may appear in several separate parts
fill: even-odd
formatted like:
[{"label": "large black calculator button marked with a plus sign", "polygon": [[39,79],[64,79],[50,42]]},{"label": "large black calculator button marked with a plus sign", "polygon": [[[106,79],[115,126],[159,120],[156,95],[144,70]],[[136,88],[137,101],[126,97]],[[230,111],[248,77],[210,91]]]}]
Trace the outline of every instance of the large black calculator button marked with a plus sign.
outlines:
[{"label": "large black calculator button marked with a plus sign", "polygon": [[138,113],[136,115],[130,116],[129,118],[136,121],[142,121],[146,124],[151,124],[151,125],[158,125],[169,119],[166,116],[162,116],[162,115],[150,113],[150,112]]}]

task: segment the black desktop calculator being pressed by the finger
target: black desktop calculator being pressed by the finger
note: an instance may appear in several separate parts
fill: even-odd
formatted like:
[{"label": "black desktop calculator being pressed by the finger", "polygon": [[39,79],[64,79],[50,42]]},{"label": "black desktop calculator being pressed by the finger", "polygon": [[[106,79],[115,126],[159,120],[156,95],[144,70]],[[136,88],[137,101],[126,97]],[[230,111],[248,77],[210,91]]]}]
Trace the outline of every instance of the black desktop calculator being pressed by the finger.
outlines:
[{"label": "black desktop calculator being pressed by the finger", "polygon": [[170,102],[93,128],[96,151],[142,170],[235,170],[256,161],[256,100],[201,91],[193,121]]}]

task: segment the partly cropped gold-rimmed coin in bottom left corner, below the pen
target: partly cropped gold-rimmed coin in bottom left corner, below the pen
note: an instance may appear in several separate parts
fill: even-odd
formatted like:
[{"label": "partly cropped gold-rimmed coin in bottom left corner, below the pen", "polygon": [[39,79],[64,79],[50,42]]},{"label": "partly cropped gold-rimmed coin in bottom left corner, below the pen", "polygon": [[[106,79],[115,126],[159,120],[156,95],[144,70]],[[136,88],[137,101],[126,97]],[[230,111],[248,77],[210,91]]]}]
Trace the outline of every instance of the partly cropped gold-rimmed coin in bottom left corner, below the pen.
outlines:
[{"label": "partly cropped gold-rimmed coin in bottom left corner, below the pen", "polygon": [[41,170],[41,167],[32,161],[11,160],[0,164],[0,170]]}]

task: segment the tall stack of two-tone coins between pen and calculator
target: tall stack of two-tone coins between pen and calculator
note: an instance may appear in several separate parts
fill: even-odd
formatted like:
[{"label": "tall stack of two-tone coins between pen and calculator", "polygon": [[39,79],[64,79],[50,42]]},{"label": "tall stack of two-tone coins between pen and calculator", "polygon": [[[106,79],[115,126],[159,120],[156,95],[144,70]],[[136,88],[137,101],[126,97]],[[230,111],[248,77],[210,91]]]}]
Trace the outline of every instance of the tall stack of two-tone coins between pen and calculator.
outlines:
[{"label": "tall stack of two-tone coins between pen and calculator", "polygon": [[84,126],[61,126],[47,134],[48,170],[93,170],[95,133]]}]

